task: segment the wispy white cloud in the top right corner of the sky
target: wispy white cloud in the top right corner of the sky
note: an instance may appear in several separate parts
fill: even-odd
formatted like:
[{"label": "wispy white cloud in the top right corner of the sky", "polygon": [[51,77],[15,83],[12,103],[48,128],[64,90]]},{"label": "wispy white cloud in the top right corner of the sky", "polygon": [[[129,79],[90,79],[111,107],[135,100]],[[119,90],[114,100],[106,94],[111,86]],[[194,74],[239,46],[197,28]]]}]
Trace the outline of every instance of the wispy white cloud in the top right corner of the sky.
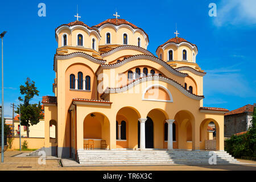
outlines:
[{"label": "wispy white cloud in the top right corner of the sky", "polygon": [[226,0],[217,4],[217,17],[213,17],[218,27],[231,25],[256,25],[255,0]]}]

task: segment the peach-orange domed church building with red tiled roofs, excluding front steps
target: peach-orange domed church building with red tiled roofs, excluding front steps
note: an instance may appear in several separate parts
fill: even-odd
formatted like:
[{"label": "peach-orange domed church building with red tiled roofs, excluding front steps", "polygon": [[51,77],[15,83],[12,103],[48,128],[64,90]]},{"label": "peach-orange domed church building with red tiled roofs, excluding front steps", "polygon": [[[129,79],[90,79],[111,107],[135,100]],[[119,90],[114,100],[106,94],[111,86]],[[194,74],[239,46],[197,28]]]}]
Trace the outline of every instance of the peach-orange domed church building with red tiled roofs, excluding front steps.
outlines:
[{"label": "peach-orange domed church building with red tiled roofs, excluding front steps", "polygon": [[[147,51],[148,35],[125,19],[55,30],[55,96],[44,96],[47,155],[76,158],[89,139],[107,150],[205,150],[210,122],[224,150],[224,113],[203,106],[198,48],[177,36]],[[49,138],[55,125],[56,138]]]}]

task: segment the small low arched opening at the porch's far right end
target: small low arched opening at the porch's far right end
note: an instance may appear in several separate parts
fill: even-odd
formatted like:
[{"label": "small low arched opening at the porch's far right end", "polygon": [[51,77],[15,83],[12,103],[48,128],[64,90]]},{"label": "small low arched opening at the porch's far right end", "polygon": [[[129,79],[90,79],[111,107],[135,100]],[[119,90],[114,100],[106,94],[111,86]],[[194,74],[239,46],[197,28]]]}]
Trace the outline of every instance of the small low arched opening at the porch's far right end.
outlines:
[{"label": "small low arched opening at the porch's far right end", "polygon": [[220,150],[220,126],[214,119],[204,119],[200,124],[200,150]]}]

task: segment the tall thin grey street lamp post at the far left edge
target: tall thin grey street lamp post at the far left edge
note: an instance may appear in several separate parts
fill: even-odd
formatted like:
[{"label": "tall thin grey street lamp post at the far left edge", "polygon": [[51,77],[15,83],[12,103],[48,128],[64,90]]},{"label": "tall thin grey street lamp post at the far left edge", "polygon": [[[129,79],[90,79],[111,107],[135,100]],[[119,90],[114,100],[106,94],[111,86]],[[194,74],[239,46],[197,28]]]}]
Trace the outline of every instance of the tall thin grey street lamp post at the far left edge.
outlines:
[{"label": "tall thin grey street lamp post at the far left edge", "polygon": [[3,113],[3,36],[5,36],[5,34],[6,34],[6,31],[4,31],[4,32],[2,32],[2,34],[0,34],[0,37],[1,37],[1,39],[2,39],[2,147],[1,147],[1,156],[2,156],[2,160],[1,160],[1,162],[3,163],[3,148],[5,147],[4,146],[4,127],[5,127],[5,123],[4,123],[4,119],[3,119],[3,117],[4,117],[4,113]]}]

